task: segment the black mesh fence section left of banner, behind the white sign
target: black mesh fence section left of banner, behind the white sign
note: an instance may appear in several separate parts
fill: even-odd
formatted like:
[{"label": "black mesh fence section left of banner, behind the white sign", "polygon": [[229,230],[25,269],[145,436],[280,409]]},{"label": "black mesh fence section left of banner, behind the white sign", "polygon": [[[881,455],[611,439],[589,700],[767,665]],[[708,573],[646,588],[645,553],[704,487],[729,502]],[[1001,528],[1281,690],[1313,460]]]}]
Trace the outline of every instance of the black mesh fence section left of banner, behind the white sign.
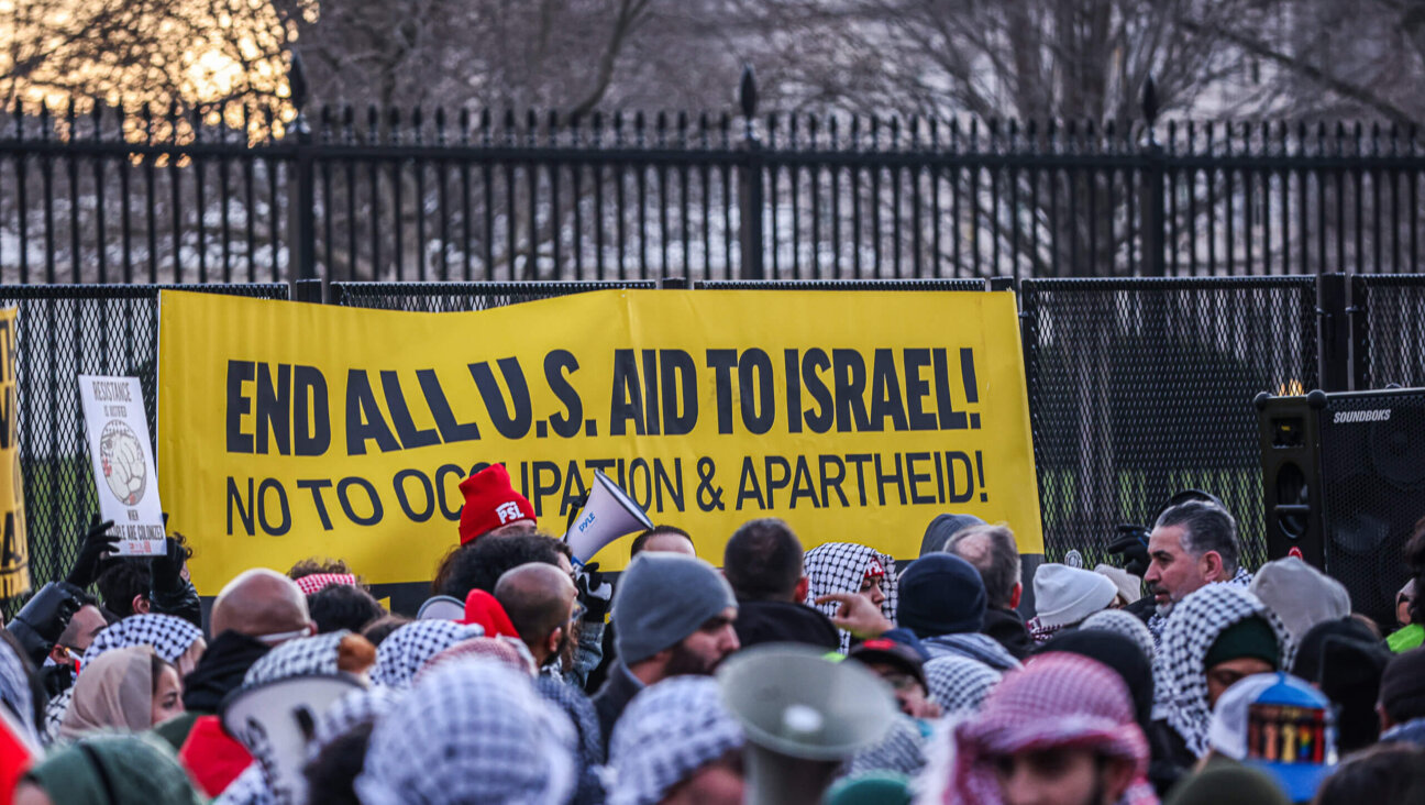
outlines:
[{"label": "black mesh fence section left of banner, behind the white sign", "polygon": [[[16,378],[30,577],[63,578],[98,511],[78,375],[137,376],[157,440],[158,292],[202,291],[286,299],[288,285],[7,285],[0,306],[19,306]],[[7,606],[7,616],[17,601]]]}]

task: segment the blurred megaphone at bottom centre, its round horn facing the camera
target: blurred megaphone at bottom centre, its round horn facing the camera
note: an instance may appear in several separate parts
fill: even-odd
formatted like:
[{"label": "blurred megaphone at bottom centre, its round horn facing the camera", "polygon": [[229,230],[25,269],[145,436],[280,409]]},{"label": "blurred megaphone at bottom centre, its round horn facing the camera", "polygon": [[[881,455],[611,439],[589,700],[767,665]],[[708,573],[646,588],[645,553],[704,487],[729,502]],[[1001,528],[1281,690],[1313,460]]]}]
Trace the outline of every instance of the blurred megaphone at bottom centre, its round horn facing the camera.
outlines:
[{"label": "blurred megaphone at bottom centre, its round horn facing the camera", "polygon": [[747,734],[748,805],[817,805],[858,749],[885,738],[895,694],[858,663],[765,644],[728,657],[717,672],[722,700]]}]

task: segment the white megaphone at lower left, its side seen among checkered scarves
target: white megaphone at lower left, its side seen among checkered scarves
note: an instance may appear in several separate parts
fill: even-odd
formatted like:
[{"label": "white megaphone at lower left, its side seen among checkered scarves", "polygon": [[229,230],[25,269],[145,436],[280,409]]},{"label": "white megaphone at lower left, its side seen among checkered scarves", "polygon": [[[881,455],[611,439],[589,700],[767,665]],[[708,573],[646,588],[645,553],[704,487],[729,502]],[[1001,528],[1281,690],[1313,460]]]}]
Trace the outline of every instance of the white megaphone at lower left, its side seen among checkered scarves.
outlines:
[{"label": "white megaphone at lower left, its side seen among checkered scarves", "polygon": [[262,767],[281,805],[306,805],[306,744],[316,720],[343,695],[362,690],[349,677],[288,677],[241,690],[222,704],[222,727]]}]

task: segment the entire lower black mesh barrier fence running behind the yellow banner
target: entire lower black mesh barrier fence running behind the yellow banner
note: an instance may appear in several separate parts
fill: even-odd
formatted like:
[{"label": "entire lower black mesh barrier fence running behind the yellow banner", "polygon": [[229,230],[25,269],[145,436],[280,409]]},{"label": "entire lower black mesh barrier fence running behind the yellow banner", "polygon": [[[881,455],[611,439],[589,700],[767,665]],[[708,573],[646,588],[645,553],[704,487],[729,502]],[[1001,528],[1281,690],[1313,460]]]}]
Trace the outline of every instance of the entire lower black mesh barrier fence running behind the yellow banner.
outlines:
[{"label": "entire lower black mesh barrier fence running behind the yellow banner", "polygon": [[[1354,379],[1425,383],[1425,275],[1026,279],[1025,372],[1046,554],[1090,561],[1120,521],[1146,521],[1174,492],[1204,487],[1238,514],[1248,566],[1265,557],[1255,393]],[[1335,278],[1340,279],[1340,278]],[[628,282],[333,282],[332,303],[473,311]],[[663,286],[684,288],[685,281]],[[979,291],[1007,281],[700,281],[695,288]],[[19,303],[20,440],[36,583],[63,576],[94,507],[74,376],[137,375],[155,417],[157,296],[164,286],[0,286]],[[288,298],[288,285],[184,286]],[[296,284],[319,301],[322,284]],[[1348,311],[1334,318],[1331,311]],[[1351,349],[1332,350],[1349,333]],[[1345,366],[1334,362],[1345,360]],[[13,604],[11,604],[13,606]]]}]

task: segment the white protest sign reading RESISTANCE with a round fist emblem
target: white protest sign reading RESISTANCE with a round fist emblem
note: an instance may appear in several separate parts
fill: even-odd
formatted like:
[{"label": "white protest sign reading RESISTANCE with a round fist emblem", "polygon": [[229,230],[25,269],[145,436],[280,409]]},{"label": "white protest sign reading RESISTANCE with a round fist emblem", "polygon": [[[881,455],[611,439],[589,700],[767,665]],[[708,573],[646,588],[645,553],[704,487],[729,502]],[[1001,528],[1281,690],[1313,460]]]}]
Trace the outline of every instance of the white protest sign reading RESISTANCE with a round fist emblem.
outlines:
[{"label": "white protest sign reading RESISTANCE with a round fist emblem", "polygon": [[162,556],[164,507],[138,378],[80,375],[98,511],[114,521],[115,556]]}]

